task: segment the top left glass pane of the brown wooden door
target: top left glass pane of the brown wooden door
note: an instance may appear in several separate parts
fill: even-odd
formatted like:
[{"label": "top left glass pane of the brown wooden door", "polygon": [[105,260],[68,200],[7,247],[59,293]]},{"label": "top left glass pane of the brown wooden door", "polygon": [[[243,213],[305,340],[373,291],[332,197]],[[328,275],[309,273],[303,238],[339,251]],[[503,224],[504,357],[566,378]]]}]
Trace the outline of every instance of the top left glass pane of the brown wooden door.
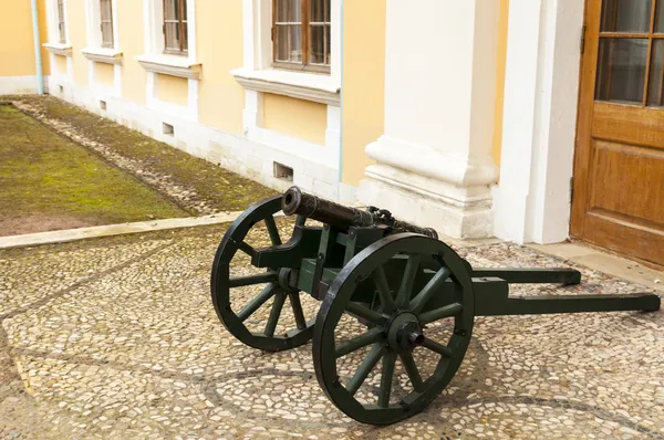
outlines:
[{"label": "top left glass pane of the brown wooden door", "polygon": [[602,32],[650,32],[653,0],[603,0]]}]

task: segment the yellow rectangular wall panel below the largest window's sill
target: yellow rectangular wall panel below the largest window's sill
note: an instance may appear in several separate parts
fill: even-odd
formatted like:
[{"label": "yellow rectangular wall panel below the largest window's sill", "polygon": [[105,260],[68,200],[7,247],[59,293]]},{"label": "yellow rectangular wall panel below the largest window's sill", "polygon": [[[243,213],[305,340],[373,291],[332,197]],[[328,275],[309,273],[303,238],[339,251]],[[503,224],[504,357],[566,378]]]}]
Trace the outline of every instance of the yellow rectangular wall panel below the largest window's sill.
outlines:
[{"label": "yellow rectangular wall panel below the largest window's sill", "polygon": [[263,127],[324,145],[328,106],[311,101],[264,93]]}]

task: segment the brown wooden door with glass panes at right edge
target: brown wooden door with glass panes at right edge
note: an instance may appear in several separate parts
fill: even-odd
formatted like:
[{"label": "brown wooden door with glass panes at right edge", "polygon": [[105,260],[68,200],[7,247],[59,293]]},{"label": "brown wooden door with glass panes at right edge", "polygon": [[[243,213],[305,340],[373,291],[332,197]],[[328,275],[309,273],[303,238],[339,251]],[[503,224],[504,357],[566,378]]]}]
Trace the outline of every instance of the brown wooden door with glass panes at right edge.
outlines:
[{"label": "brown wooden door with glass panes at right edge", "polygon": [[664,265],[664,0],[587,0],[571,234]]}]

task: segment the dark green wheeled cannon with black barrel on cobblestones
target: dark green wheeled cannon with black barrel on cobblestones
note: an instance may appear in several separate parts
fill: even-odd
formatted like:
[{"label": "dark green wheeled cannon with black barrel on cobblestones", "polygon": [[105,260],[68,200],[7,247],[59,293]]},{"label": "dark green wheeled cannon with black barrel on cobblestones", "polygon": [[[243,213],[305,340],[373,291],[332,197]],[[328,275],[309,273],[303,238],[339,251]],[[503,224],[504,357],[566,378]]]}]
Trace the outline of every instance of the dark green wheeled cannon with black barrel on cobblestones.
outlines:
[{"label": "dark green wheeled cannon with black barrel on cobblestones", "polygon": [[[294,219],[288,241],[276,221],[281,212]],[[263,245],[251,244],[261,235]],[[360,422],[388,425],[421,412],[447,387],[476,316],[660,308],[647,293],[509,295],[512,283],[580,282],[581,273],[566,268],[475,269],[433,229],[292,187],[230,226],[210,287],[238,341],[279,352],[312,339],[328,398]]]}]

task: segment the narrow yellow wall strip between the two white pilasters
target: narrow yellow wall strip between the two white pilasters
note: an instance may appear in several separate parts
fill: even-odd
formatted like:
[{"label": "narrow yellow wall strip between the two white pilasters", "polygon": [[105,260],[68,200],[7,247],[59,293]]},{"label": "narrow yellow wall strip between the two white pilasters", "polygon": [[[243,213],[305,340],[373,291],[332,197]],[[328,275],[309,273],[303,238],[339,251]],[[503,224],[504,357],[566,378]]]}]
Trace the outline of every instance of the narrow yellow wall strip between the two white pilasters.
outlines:
[{"label": "narrow yellow wall strip between the two white pilasters", "polygon": [[509,0],[500,0],[500,19],[498,22],[498,48],[496,50],[496,102],[494,107],[494,143],[491,156],[500,169],[500,150],[502,148],[502,107],[505,104],[505,69],[507,64],[507,28]]}]

